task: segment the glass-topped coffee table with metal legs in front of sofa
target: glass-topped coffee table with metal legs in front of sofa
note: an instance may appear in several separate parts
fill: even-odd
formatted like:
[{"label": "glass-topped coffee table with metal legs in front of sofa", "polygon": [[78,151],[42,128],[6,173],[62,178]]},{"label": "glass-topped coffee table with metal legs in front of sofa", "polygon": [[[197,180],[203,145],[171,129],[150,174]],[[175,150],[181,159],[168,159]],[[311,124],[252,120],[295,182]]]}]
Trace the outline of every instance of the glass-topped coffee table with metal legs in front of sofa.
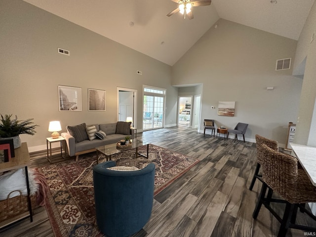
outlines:
[{"label": "glass-topped coffee table with metal legs in front of sofa", "polygon": [[[135,153],[135,158],[142,156],[142,157],[146,157],[148,158],[148,153],[149,153],[149,142],[146,141],[142,141],[139,139],[131,139],[131,146],[128,147],[124,147],[124,151],[130,150],[130,149],[134,149],[136,148],[136,153]],[[138,152],[138,148],[147,145],[147,156],[140,154]],[[119,150],[119,148],[117,147],[117,144],[110,144],[110,145],[104,145],[104,146],[100,146],[100,147],[96,147],[95,148],[97,151],[97,164],[99,163],[99,155],[103,154],[105,155],[107,161],[112,159],[112,155],[118,154],[121,151]]]}]

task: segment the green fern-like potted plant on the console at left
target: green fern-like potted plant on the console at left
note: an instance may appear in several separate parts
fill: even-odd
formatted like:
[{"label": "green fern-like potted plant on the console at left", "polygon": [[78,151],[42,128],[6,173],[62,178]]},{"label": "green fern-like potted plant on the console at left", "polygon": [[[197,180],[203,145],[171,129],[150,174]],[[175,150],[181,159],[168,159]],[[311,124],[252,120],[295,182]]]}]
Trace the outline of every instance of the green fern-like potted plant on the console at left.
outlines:
[{"label": "green fern-like potted plant on the console at left", "polygon": [[17,116],[15,119],[11,119],[12,115],[1,115],[0,123],[0,139],[13,139],[14,149],[21,146],[20,134],[34,135],[36,133],[35,127],[39,125],[33,125],[33,118],[26,120],[18,120]]}]

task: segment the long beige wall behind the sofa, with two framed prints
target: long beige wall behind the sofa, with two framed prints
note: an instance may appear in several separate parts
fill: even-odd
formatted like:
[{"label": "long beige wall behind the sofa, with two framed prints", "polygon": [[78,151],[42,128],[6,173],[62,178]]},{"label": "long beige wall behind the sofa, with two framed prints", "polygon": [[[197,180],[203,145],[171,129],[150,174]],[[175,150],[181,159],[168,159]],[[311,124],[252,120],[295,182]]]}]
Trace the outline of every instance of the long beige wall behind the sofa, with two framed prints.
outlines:
[{"label": "long beige wall behind the sofa, with two framed prints", "polygon": [[[36,135],[21,135],[29,150],[46,147],[50,120],[60,120],[63,131],[117,121],[118,86],[138,90],[138,128],[143,84],[167,89],[165,123],[175,122],[178,89],[170,85],[170,66],[21,0],[0,1],[0,32],[0,113],[40,125]],[[58,85],[82,88],[82,112],[59,112]],[[106,112],[88,111],[88,88],[106,90]]]}]

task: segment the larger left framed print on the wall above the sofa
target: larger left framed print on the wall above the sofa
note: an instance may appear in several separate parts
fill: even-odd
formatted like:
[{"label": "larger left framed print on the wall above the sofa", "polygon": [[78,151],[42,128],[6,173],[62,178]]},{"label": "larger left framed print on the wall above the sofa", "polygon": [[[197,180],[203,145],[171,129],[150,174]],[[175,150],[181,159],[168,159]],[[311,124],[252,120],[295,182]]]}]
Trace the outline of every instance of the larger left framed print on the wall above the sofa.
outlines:
[{"label": "larger left framed print on the wall above the sofa", "polygon": [[82,111],[81,88],[58,85],[59,111]]}]

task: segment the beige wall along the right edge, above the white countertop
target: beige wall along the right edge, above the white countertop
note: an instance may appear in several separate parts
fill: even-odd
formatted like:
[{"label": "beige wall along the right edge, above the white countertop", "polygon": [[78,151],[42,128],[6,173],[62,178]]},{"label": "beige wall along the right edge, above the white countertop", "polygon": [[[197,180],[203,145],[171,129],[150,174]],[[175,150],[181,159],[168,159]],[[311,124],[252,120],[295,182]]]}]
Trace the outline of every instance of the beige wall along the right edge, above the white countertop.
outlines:
[{"label": "beige wall along the right edge, above the white countertop", "polygon": [[[295,143],[316,146],[316,2],[305,22],[297,43],[294,73],[303,64],[303,85],[300,98],[299,115],[295,131]],[[306,62],[305,62],[306,61]],[[303,62],[303,63],[302,63]]]}]

